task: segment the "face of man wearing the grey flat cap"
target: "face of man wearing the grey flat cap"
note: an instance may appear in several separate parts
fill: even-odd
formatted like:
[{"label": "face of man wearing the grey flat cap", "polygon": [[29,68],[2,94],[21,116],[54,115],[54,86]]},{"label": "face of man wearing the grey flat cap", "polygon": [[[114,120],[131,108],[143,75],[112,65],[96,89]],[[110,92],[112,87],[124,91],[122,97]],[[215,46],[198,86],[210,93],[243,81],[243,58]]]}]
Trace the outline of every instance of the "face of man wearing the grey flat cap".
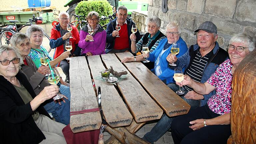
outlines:
[{"label": "face of man wearing the grey flat cap", "polygon": [[201,49],[211,49],[214,48],[217,38],[218,35],[214,37],[213,33],[208,33],[206,31],[199,30],[197,33],[197,44]]}]

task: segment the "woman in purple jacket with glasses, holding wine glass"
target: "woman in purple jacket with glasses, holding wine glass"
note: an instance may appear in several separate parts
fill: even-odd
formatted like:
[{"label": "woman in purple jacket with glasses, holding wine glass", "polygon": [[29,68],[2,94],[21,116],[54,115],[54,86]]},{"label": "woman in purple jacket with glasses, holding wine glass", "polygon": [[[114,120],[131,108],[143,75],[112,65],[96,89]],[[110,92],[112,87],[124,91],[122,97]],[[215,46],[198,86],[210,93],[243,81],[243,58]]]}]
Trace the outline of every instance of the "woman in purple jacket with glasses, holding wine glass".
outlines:
[{"label": "woman in purple jacket with glasses, holding wine glass", "polygon": [[[82,56],[105,54],[106,31],[99,25],[100,16],[97,12],[88,13],[86,24],[80,31],[80,41],[78,46],[82,49]],[[88,33],[89,27],[93,28],[93,34]]]}]

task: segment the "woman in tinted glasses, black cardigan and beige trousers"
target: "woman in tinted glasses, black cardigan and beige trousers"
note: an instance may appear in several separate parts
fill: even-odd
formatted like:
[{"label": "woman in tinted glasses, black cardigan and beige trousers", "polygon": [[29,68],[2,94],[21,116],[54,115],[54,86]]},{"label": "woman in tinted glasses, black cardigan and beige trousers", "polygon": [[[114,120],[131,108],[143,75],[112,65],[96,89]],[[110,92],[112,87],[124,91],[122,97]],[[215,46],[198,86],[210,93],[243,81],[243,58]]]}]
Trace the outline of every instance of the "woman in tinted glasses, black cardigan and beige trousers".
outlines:
[{"label": "woman in tinted glasses, black cardigan and beige trousers", "polygon": [[0,47],[1,142],[65,144],[65,125],[51,120],[41,105],[55,96],[58,86],[47,86],[36,95],[26,76],[19,72],[21,64],[16,48]]}]

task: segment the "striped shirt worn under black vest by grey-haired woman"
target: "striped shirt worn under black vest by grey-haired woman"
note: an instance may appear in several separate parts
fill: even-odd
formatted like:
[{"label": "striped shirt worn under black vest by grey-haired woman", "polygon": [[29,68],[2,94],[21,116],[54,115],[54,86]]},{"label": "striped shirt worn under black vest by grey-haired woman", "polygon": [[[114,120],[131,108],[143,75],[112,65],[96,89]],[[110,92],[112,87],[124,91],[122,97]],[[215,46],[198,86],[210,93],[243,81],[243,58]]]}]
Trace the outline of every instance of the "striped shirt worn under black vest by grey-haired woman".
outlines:
[{"label": "striped shirt worn under black vest by grey-haired woman", "polygon": [[[157,36],[158,36],[158,34],[160,33],[160,31],[158,31],[153,37],[151,37],[151,35],[149,34],[148,35],[148,42],[147,42],[147,45],[149,45],[150,43],[151,43],[151,41],[152,40],[154,40]],[[157,41],[156,41],[156,43],[151,47],[151,49],[149,50],[150,52],[152,52],[152,51],[154,51],[155,49],[156,49],[156,47],[158,46],[158,44],[159,44],[159,42],[162,40],[162,39],[164,39],[165,38],[165,36],[162,36],[160,39],[158,39]],[[136,51],[135,51],[135,53],[137,53],[137,52],[140,52],[142,49],[141,49],[141,46],[142,46],[142,43],[143,43],[143,37],[139,40],[139,42],[136,44]]]}]

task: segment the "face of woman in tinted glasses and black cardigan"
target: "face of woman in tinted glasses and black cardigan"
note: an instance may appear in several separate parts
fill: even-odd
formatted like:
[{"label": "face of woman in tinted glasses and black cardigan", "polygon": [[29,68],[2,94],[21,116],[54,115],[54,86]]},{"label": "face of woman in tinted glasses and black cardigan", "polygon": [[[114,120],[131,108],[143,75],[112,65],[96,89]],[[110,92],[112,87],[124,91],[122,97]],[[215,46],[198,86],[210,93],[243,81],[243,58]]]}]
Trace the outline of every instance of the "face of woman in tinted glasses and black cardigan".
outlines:
[{"label": "face of woman in tinted glasses and black cardigan", "polygon": [[[3,51],[2,55],[0,55],[0,61],[3,61],[3,60],[11,61],[15,58],[17,58],[17,55],[12,50],[8,51],[8,53],[6,51]],[[9,80],[12,77],[15,77],[16,74],[19,72],[19,66],[20,66],[20,63],[13,64],[12,62],[10,62],[10,64],[6,66],[0,63],[0,75],[2,75],[5,79]]]}]

